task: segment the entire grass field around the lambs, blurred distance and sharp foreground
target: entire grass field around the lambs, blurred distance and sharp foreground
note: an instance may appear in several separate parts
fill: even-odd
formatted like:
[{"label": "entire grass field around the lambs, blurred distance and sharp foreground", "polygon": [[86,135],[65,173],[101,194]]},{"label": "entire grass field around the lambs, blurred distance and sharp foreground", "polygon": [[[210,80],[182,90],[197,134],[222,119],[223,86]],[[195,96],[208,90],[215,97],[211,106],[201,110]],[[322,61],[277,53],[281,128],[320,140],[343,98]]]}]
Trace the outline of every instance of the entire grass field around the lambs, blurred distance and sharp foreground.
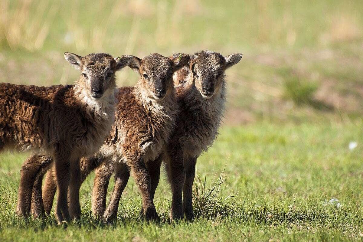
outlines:
[{"label": "entire grass field around the lambs, blurred distance and sharp foreground", "polygon": [[[362,241],[362,9],[362,0],[0,0],[0,82],[73,83],[79,72],[63,52],[244,54],[227,71],[221,135],[197,163],[195,221],[167,222],[164,175],[160,225],[136,219],[132,179],[117,222],[95,220],[93,175],[81,222],[25,221],[14,211],[28,154],[3,153],[0,241]],[[137,78],[126,68],[117,84]]]}]

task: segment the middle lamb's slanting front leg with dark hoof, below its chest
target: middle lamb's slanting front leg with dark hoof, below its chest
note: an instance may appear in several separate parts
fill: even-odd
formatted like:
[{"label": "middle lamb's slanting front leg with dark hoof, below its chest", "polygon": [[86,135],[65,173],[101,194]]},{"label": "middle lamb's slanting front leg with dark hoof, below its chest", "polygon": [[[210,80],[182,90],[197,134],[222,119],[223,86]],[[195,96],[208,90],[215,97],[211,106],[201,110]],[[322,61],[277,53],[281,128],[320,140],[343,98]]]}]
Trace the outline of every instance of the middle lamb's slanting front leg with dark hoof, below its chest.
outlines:
[{"label": "middle lamb's slanting front leg with dark hoof, below its chest", "polygon": [[152,201],[150,175],[142,156],[140,154],[135,154],[132,157],[127,157],[127,164],[131,167],[131,174],[141,193],[144,210],[143,218],[146,221],[159,222],[160,219],[156,213],[154,202]]}]

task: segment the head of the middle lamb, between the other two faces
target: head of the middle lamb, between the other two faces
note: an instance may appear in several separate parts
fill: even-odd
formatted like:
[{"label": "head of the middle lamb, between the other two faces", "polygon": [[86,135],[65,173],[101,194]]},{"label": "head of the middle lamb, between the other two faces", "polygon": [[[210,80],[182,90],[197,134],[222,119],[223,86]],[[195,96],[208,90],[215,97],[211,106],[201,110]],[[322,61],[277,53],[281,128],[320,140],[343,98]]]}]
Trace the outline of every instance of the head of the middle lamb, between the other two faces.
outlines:
[{"label": "head of the middle lamb, between the other two faces", "polygon": [[129,67],[139,73],[139,87],[145,98],[161,101],[172,91],[174,72],[188,65],[189,60],[188,54],[175,54],[168,58],[152,53],[142,60],[134,57]]}]

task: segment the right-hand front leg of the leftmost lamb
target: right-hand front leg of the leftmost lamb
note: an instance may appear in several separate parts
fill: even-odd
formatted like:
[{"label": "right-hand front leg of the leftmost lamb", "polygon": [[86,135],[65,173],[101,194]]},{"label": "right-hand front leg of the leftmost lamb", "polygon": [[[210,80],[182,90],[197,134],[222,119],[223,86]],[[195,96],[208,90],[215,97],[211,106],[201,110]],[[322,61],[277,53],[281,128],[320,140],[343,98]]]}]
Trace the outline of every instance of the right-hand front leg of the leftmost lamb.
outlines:
[{"label": "right-hand front leg of the leftmost lamb", "polygon": [[79,204],[79,189],[82,184],[81,167],[79,159],[70,163],[70,182],[68,186],[68,206],[69,215],[72,219],[78,220],[81,216],[81,206]]}]

